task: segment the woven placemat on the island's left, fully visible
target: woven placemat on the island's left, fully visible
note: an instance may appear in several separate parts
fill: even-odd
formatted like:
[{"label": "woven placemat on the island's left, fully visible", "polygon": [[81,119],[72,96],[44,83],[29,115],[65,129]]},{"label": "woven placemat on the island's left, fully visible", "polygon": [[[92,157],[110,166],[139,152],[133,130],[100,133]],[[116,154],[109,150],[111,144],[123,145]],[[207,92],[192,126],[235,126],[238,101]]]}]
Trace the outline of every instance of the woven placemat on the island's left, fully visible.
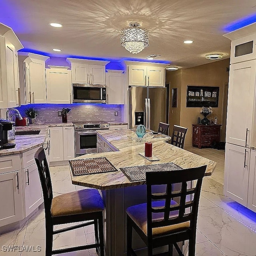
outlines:
[{"label": "woven placemat on the island's left, fully visible", "polygon": [[106,157],[69,160],[68,162],[74,176],[117,171]]}]

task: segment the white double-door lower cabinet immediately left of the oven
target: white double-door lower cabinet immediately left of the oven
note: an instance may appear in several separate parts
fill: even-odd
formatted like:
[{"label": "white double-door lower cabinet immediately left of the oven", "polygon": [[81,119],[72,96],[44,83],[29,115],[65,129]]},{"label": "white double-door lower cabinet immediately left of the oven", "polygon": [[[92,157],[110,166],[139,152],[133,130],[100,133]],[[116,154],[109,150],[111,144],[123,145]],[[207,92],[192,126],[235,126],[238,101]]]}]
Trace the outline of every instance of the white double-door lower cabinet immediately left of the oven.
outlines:
[{"label": "white double-door lower cabinet immediately left of the oven", "polygon": [[50,127],[50,162],[75,157],[74,127]]}]

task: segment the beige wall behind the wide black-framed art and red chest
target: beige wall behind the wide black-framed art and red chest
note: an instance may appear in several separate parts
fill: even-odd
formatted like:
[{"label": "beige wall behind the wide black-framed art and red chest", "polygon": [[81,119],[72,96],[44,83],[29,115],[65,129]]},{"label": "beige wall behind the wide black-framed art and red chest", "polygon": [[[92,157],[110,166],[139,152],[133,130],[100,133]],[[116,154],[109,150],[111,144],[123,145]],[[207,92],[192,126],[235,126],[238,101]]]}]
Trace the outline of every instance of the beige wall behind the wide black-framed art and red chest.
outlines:
[{"label": "beige wall behind the wide black-framed art and red chest", "polygon": [[[178,106],[176,110],[170,107],[170,131],[174,122],[180,126],[188,128],[186,134],[185,145],[192,146],[192,124],[197,123],[197,118],[203,116],[199,113],[198,108],[186,108],[186,93],[188,85],[198,86],[218,86],[219,103],[218,108],[213,108],[213,114],[207,118],[211,119],[215,116],[218,118],[218,124],[222,123],[224,83],[228,82],[229,73],[226,68],[229,67],[230,59],[219,60],[209,64],[178,70],[178,72],[166,72],[166,82],[170,81],[171,87],[178,88]],[[170,105],[171,106],[171,105]],[[172,114],[174,110],[174,114]]]}]

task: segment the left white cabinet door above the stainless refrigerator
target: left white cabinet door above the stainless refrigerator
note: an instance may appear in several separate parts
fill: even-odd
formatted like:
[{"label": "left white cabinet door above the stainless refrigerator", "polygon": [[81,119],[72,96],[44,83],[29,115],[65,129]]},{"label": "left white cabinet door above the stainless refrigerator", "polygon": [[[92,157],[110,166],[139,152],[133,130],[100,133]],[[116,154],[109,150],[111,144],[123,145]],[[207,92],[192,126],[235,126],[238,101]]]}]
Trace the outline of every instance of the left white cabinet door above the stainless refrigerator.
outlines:
[{"label": "left white cabinet door above the stainless refrigerator", "polygon": [[147,67],[129,66],[129,85],[146,86]]}]

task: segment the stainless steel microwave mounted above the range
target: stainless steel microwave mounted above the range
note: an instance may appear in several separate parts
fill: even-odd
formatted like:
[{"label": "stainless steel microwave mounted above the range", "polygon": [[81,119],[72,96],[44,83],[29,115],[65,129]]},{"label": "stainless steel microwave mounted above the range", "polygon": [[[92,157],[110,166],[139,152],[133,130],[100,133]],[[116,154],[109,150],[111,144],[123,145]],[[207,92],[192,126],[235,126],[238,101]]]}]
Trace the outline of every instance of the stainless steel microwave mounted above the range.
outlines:
[{"label": "stainless steel microwave mounted above the range", "polygon": [[106,85],[73,84],[74,103],[106,103]]}]

